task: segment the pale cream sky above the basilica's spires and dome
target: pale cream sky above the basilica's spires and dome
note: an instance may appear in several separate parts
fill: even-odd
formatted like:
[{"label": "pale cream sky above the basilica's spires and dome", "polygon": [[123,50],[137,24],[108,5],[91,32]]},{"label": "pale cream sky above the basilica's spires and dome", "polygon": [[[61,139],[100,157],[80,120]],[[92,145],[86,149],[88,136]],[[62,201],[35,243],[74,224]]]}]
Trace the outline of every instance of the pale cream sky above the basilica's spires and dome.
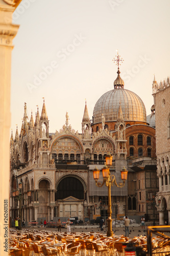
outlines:
[{"label": "pale cream sky above the basilica's spires and dome", "polygon": [[[20,132],[27,103],[35,121],[43,99],[50,132],[69,124],[81,132],[85,99],[90,119],[96,101],[113,89],[118,49],[125,89],[153,105],[154,74],[170,75],[169,0],[22,0],[13,15],[11,128]],[[51,67],[50,67],[51,66]]]}]

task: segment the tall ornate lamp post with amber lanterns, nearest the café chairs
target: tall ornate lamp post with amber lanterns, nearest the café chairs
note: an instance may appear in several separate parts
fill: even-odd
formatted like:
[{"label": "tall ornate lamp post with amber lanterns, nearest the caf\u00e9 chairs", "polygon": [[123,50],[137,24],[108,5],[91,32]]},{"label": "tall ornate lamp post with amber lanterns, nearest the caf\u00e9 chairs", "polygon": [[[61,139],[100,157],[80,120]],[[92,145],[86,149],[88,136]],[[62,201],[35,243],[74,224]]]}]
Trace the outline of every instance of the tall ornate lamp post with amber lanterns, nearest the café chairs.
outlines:
[{"label": "tall ornate lamp post with amber lanterns, nearest the caf\u00e9 chairs", "polygon": [[102,168],[102,174],[103,174],[103,183],[101,184],[98,182],[99,175],[100,175],[100,170],[95,167],[93,169],[93,177],[95,180],[95,185],[98,187],[102,187],[104,184],[108,187],[108,230],[107,230],[107,236],[112,237],[113,236],[113,231],[112,231],[112,210],[111,210],[111,186],[115,184],[117,187],[123,187],[125,186],[125,181],[127,180],[128,177],[128,170],[124,167],[120,172],[121,172],[121,177],[123,180],[123,183],[120,182],[117,184],[116,178],[114,175],[110,175],[110,166],[112,165],[112,159],[113,157],[108,154],[105,158],[106,160],[106,165]]}]

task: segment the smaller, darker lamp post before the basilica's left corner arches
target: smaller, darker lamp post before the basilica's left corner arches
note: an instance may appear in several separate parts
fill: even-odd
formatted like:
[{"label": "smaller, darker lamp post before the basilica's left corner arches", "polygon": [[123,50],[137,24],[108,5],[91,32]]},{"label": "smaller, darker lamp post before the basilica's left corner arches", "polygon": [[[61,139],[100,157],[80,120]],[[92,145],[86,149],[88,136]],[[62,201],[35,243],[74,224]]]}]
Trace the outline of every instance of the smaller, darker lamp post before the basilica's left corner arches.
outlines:
[{"label": "smaller, darker lamp post before the basilica's left corner arches", "polygon": [[29,198],[31,197],[31,191],[28,190],[27,195],[28,195],[28,199],[24,198],[24,195],[21,194],[21,190],[22,190],[22,182],[19,182],[18,184],[19,189],[16,189],[13,191],[12,195],[14,197],[15,201],[19,201],[19,220],[18,220],[18,230],[21,230],[21,205],[22,205],[22,200],[29,200]]}]

